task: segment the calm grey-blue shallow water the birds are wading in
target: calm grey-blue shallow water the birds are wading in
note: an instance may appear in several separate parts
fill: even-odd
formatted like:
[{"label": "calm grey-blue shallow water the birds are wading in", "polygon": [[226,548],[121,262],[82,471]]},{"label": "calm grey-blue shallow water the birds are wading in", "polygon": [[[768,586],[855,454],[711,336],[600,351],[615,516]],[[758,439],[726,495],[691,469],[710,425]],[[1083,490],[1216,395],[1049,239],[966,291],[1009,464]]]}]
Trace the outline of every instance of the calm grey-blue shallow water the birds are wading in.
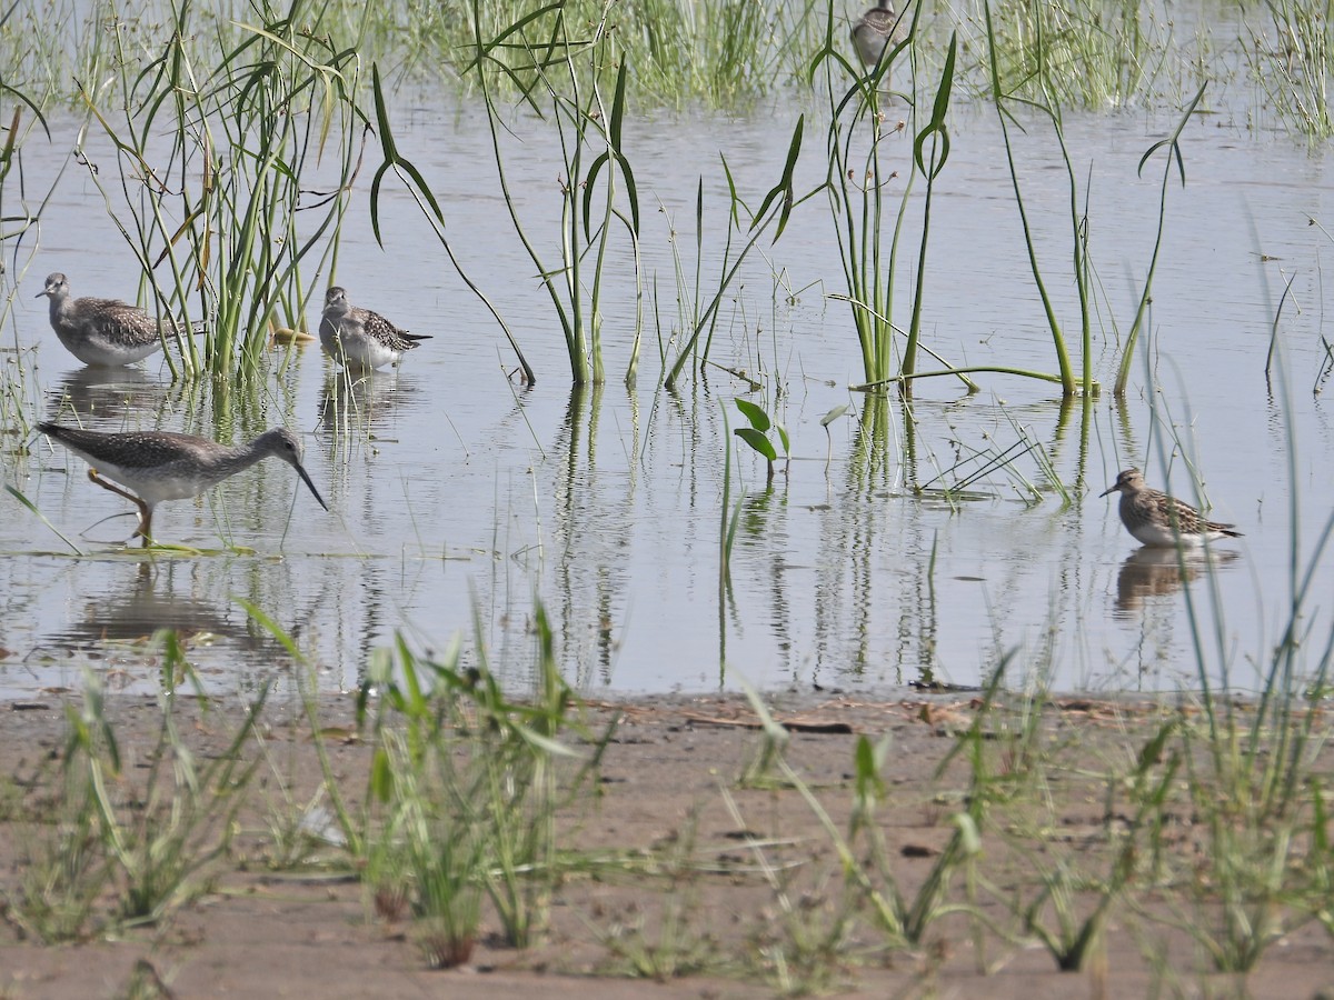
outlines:
[{"label": "calm grey-blue shallow water the birds are wading in", "polygon": [[[719,151],[758,204],[778,177],[795,113],[780,107],[746,119],[636,124],[646,271],[658,279],[668,331],[676,295],[668,215],[690,273],[695,185],[704,175],[706,241],[716,261],[726,212]],[[1334,180],[1323,148],[1245,132],[1226,115],[1191,123],[1187,184],[1169,193],[1147,355],[1123,407],[1105,393],[1087,409],[1062,409],[1054,387],[1002,375],[976,376],[983,391],[975,396],[952,380],[920,383],[911,409],[896,396],[875,404],[850,393],[862,380],[856,340],[847,307],[824,297],[844,291],[834,231],[827,203],[806,203],[782,240],[752,259],[712,347],[718,364],[782,385],[792,440],[791,471],[771,489],[762,463],[734,455],[731,497],[746,496],[731,587],[720,593],[723,413],[732,428],[740,423],[731,400],[744,383],[711,367],[675,395],[656,389],[650,320],[639,388],[627,389],[634,285],[622,280],[604,316],[608,383],[571,392],[559,328],[504,217],[484,123],[470,111],[420,107],[402,109],[402,123],[400,148],[439,196],[455,251],[515,329],[538,384],[507,377],[515,365],[504,337],[406,193],[390,193],[384,249],[375,244],[364,187],[336,280],[354,303],[434,336],[399,369],[347,387],[317,344],[285,368],[275,355],[252,395],[172,385],[160,359],[109,373],[83,369],[49,331],[45,301],[33,299],[41,277],[60,269],[76,296],[132,296],[139,275],[133,259],[116,252],[120,236],[87,175],[67,171],[40,249],[19,276],[15,343],[4,355],[11,385],[33,400],[33,420],[71,420],[77,411],[100,429],[184,429],[232,441],[285,424],[304,436],[307,468],[331,512],[288,467],[264,463],[199,501],[159,509],[160,539],[203,555],[147,559],[120,547],[131,517],[103,520],[129,505],[33,435],[29,457],[7,456],[5,483],[84,555],[15,497],[0,497],[8,556],[0,561],[0,693],[77,685],[89,663],[116,684],[151,689],[160,655],[147,639],[159,627],[188,632],[191,663],[211,685],[252,688],[288,663],[241,600],[288,629],[329,688],[355,685],[372,651],[398,631],[412,648],[436,653],[462,633],[464,656],[474,657],[474,612],[492,667],[522,683],[534,659],[535,597],[566,675],[591,693],[735,687],[740,677],[852,692],[915,680],[978,684],[1010,653],[1017,684],[1045,672],[1065,689],[1170,689],[1197,687],[1203,671],[1210,683],[1258,685],[1287,623],[1293,540],[1305,565],[1330,517],[1325,469],[1334,435],[1313,393],[1326,356],[1330,240],[1321,227],[1331,221]],[[522,141],[508,147],[507,165],[526,217],[542,220],[535,231],[554,248],[559,167],[540,127],[518,124]],[[1106,296],[1094,351],[1105,384],[1119,359],[1111,319],[1129,328],[1155,231],[1162,160],[1143,176],[1137,167],[1171,124],[1131,115],[1067,121],[1081,183],[1093,165],[1091,253]],[[995,119],[962,111],[952,127],[932,205],[926,343],[956,363],[1054,369]],[[57,171],[76,128],[53,123],[51,147],[27,151],[27,176]],[[807,188],[822,180],[820,149],[819,127],[808,125]],[[910,144],[895,149],[907,157]],[[1045,277],[1074,336],[1069,195],[1055,152],[1034,128],[1022,180]],[[654,211],[659,201],[666,213]],[[915,260],[915,237],[906,245],[904,259]],[[323,289],[334,277],[312,272],[304,281]],[[1278,375],[1266,384],[1289,279]],[[904,304],[911,280],[904,268]],[[312,325],[320,299],[311,303]],[[772,392],[750,397],[768,405]],[[848,403],[854,412],[827,439],[820,419]],[[868,457],[859,415],[875,405],[888,447]],[[1245,532],[1218,545],[1211,561],[1191,560],[1185,588],[1175,557],[1138,551],[1115,496],[1098,499],[1131,464],[1163,485],[1171,432],[1198,463],[1211,516]],[[1041,497],[1005,472],[954,504],[911,489],[952,484],[963,475],[950,472],[960,457],[1023,441],[1045,449],[1073,491],[1069,505],[1033,452],[1018,455],[1014,468]],[[1179,457],[1171,487],[1198,500]],[[1294,493],[1303,507],[1295,523]],[[1334,592],[1331,575],[1325,560],[1311,584],[1317,603]],[[1317,637],[1330,628],[1323,604],[1305,620]],[[1205,625],[1202,660],[1191,607]]]}]

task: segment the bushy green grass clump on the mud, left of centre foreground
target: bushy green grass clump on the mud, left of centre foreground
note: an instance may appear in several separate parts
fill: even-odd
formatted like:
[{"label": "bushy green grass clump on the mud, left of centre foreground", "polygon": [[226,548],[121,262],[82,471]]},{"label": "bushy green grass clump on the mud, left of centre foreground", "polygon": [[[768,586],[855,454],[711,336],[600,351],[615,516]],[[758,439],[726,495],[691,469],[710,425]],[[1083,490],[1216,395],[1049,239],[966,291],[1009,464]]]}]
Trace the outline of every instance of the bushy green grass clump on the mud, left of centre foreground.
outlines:
[{"label": "bushy green grass clump on the mud, left of centre foreground", "polygon": [[[540,607],[535,621],[531,704],[503,695],[484,653],[464,668],[458,644],[432,661],[400,640],[362,688],[360,713],[375,741],[368,825],[359,837],[367,892],[382,915],[412,915],[432,965],[467,959],[483,899],[510,944],[526,947],[540,932],[559,877],[555,813],[579,795],[611,736],[592,740],[588,753],[563,741],[567,731],[588,735],[570,715],[571,692]],[[576,767],[567,787],[558,785],[558,761]]]}]

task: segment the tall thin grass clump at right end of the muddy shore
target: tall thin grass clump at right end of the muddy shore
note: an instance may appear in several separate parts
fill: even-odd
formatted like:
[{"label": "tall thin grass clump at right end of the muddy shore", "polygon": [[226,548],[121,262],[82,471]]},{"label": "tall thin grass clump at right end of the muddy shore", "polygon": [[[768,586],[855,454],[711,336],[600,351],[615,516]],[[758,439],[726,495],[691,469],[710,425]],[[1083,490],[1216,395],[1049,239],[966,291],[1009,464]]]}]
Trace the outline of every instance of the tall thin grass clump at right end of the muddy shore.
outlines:
[{"label": "tall thin grass clump at right end of the muddy shore", "polygon": [[[1281,351],[1275,376],[1279,404],[1290,409]],[[1170,456],[1185,456],[1194,469],[1187,443],[1157,412],[1161,405],[1155,403],[1153,441],[1159,465],[1166,471]],[[1157,433],[1158,427],[1167,429]],[[1291,439],[1285,459],[1286,477],[1297,483],[1298,448]],[[1311,893],[1325,884],[1318,852],[1327,840],[1318,777],[1326,727],[1317,692],[1327,689],[1334,668],[1334,625],[1317,609],[1314,580],[1334,536],[1334,516],[1303,547],[1299,491],[1291,488],[1287,496],[1287,587],[1277,595],[1278,641],[1253,653],[1249,667],[1257,687],[1249,696],[1238,695],[1246,685],[1237,677],[1237,651],[1213,563],[1205,563],[1199,595],[1183,588],[1195,691],[1173,747],[1185,787],[1163,811],[1189,811],[1198,852],[1193,864],[1169,869],[1182,888],[1179,896],[1158,905],[1131,900],[1146,919],[1190,935],[1223,973],[1250,972],[1270,945],[1319,919],[1323,909],[1313,904]],[[1185,579],[1183,563],[1179,572]]]}]

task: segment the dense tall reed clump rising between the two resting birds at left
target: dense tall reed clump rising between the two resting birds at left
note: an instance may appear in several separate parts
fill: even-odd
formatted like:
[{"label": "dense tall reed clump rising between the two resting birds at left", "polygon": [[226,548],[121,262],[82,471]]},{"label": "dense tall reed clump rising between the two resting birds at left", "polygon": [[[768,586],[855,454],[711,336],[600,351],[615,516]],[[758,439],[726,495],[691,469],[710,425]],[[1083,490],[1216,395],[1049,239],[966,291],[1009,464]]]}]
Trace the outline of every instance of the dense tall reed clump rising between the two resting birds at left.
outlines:
[{"label": "dense tall reed clump rising between the two resting birds at left", "polygon": [[201,344],[177,333],[175,375],[252,373],[271,320],[303,325],[303,267],[336,247],[367,119],[360,57],[321,31],[321,9],[265,0],[209,23],[180,0],[159,47],[117,33],[117,73],[80,88],[115,179],[87,127],[80,157],[144,275],[165,269],[145,281],[156,308],[195,299],[207,317]]}]

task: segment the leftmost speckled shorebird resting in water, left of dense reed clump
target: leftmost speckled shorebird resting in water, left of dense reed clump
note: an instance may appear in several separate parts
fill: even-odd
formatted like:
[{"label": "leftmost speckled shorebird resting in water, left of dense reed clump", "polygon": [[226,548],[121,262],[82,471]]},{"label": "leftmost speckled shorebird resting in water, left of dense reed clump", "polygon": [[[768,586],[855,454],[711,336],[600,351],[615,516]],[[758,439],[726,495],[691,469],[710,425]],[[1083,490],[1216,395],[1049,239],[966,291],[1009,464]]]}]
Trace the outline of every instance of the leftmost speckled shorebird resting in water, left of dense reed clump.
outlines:
[{"label": "leftmost speckled shorebird resting in water, left of dense reed clump", "polygon": [[[51,299],[51,328],[84,364],[133,364],[161,348],[159,328],[176,332],[171,317],[159,324],[156,316],[120,299],[71,299],[69,279],[59,271],[47,275],[47,287],[36,297],[41,296]],[[195,324],[191,332],[201,333],[203,325]]]}]

